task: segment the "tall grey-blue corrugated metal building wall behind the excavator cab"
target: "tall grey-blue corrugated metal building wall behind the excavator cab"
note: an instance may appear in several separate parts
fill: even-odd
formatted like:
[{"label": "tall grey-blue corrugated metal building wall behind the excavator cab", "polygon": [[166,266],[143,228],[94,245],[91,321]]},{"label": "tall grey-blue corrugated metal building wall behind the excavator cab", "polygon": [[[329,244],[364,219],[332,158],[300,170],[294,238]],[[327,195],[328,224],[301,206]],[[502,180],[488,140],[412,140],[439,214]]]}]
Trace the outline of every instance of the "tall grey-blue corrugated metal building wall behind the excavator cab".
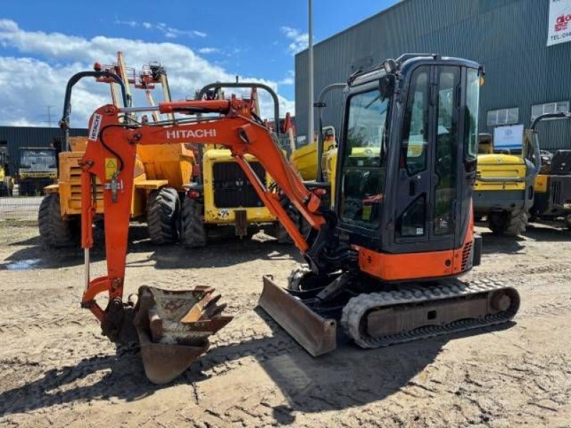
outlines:
[{"label": "tall grey-blue corrugated metal building wall behind the excavator cab", "polygon": [[[532,104],[571,100],[571,43],[547,47],[548,0],[404,0],[315,45],[315,97],[361,66],[420,52],[484,64],[480,131],[486,112],[518,107],[530,124]],[[295,118],[307,133],[307,51],[295,56]],[[328,96],[323,123],[340,128],[341,93]],[[540,125],[542,148],[571,148],[571,121]]]}]

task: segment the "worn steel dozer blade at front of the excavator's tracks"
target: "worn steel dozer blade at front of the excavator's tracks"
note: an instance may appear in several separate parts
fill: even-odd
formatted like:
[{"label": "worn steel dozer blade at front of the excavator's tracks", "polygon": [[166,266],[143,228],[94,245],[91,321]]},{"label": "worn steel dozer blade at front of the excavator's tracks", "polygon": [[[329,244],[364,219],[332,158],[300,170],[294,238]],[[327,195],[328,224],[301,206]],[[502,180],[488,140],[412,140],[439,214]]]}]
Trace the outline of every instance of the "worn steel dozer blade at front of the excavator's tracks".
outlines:
[{"label": "worn steel dozer blade at front of the excavator's tracks", "polygon": [[263,290],[258,305],[313,357],[337,347],[337,322],[320,317],[301,300],[276,285],[269,275],[263,277]]}]

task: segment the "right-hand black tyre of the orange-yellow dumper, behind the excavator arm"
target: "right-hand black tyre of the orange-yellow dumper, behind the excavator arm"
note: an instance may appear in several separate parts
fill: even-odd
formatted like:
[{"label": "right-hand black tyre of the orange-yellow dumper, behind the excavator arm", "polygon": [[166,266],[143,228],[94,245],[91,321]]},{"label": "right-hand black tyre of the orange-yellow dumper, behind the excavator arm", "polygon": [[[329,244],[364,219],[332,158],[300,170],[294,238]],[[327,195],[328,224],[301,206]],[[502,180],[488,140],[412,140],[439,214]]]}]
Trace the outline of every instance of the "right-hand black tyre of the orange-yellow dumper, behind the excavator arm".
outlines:
[{"label": "right-hand black tyre of the orange-yellow dumper, behind the excavator arm", "polygon": [[147,201],[147,228],[155,244],[169,244],[178,241],[178,218],[180,200],[173,188],[153,190]]}]

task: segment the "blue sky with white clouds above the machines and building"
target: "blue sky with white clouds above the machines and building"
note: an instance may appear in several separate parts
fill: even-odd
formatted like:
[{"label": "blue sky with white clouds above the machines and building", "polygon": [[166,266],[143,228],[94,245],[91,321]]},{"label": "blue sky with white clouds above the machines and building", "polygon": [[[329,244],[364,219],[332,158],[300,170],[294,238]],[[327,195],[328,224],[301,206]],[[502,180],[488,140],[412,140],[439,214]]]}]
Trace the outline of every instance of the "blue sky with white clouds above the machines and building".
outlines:
[{"label": "blue sky with white clouds above the machines and building", "polygon": [[[313,3],[318,42],[396,0]],[[47,105],[59,112],[59,86],[71,73],[89,68],[94,58],[111,63],[117,50],[136,68],[148,61],[163,62],[173,76],[175,96],[183,98],[193,93],[192,86],[238,74],[271,83],[281,96],[282,110],[291,110],[293,54],[306,46],[306,33],[305,0],[3,1],[0,98],[16,105],[0,107],[0,124],[41,125]],[[16,81],[19,78],[26,82]],[[80,91],[91,108],[102,101],[105,88],[84,86]],[[36,105],[26,106],[26,101]],[[83,120],[88,110],[78,113]]]}]

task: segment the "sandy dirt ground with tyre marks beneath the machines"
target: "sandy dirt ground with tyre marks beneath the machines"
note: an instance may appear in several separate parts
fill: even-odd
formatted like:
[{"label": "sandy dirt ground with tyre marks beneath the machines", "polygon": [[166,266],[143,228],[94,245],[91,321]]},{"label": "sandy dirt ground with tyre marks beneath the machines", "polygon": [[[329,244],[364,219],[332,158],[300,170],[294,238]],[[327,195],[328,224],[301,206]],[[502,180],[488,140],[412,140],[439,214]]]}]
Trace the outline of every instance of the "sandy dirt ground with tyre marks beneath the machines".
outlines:
[{"label": "sandy dirt ground with tyre marks beneath the machines", "polygon": [[[132,228],[126,293],[139,285],[214,285],[235,316],[173,384],[146,379],[134,350],[116,355],[79,307],[80,251],[42,248],[33,224],[0,222],[0,425],[18,427],[570,427],[571,233],[525,238],[481,228],[467,278],[511,282],[515,322],[382,350],[346,344],[313,359],[256,310],[261,275],[283,282],[300,261],[272,240],[154,247]],[[101,243],[92,275],[105,270]]]}]

